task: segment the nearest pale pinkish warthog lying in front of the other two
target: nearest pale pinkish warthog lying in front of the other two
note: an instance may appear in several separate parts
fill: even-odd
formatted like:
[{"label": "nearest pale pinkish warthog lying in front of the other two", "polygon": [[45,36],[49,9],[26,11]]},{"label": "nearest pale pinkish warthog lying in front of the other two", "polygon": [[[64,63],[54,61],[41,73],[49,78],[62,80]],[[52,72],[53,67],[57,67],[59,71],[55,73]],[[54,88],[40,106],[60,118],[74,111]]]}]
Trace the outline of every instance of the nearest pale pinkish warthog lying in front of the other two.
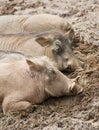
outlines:
[{"label": "nearest pale pinkish warthog lying in front of the other two", "polygon": [[0,101],[4,114],[27,109],[49,97],[76,95],[82,90],[46,57],[0,62]]}]

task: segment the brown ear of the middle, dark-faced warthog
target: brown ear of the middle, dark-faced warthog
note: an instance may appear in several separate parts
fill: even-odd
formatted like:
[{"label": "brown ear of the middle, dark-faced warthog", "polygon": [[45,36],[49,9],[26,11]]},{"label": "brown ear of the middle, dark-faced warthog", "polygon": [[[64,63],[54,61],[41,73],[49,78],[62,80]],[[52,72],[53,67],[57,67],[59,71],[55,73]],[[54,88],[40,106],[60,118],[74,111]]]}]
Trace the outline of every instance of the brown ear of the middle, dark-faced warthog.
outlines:
[{"label": "brown ear of the middle, dark-faced warthog", "polygon": [[52,39],[49,37],[38,37],[35,39],[41,46],[45,47],[52,43]]}]

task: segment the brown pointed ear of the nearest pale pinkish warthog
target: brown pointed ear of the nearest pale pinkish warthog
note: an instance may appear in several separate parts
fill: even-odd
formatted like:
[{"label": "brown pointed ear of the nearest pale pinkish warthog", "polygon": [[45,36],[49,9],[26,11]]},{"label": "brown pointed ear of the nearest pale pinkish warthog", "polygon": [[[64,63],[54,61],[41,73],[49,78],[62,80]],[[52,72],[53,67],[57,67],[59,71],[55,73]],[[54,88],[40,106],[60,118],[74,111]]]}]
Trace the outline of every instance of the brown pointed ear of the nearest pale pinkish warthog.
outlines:
[{"label": "brown pointed ear of the nearest pale pinkish warthog", "polygon": [[31,71],[37,70],[37,71],[42,71],[44,67],[38,63],[32,62],[29,59],[26,59],[27,64],[29,65],[29,68]]}]

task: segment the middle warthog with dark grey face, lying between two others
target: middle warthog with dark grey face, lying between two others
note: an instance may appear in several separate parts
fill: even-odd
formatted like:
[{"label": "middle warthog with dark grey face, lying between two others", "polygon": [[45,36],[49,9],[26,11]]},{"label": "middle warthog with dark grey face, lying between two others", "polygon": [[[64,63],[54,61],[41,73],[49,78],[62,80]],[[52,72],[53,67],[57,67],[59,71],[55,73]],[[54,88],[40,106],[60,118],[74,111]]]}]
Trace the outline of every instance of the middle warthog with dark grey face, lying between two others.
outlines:
[{"label": "middle warthog with dark grey face, lying between two others", "polygon": [[57,31],[47,31],[30,35],[21,33],[1,36],[0,49],[18,51],[33,57],[45,55],[56,63],[56,67],[59,70],[74,71],[81,68],[81,63],[74,56],[68,46],[68,42],[68,39]]}]

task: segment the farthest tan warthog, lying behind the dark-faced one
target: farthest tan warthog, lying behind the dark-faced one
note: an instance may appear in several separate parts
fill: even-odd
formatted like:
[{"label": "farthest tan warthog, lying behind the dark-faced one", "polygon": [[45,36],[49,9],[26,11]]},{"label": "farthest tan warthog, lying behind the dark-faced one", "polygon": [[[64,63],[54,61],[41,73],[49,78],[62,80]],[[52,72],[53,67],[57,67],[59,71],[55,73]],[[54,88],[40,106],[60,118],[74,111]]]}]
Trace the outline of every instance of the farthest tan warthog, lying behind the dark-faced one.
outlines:
[{"label": "farthest tan warthog, lying behind the dark-faced one", "polygon": [[7,15],[0,16],[0,34],[16,34],[21,32],[61,31],[73,44],[74,30],[63,18],[52,14]]}]

